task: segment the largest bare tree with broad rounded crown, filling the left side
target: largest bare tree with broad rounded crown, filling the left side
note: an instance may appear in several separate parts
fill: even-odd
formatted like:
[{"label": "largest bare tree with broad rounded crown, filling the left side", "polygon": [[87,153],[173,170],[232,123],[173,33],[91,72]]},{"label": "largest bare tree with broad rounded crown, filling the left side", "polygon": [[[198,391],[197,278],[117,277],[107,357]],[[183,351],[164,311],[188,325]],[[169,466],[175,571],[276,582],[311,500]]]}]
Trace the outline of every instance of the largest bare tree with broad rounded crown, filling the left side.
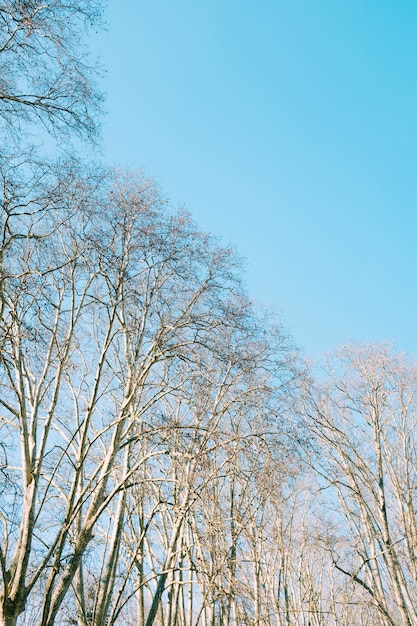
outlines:
[{"label": "largest bare tree with broad rounded crown, filling the left side", "polygon": [[231,442],[256,434],[255,407],[270,410],[275,357],[256,338],[234,254],[166,208],[152,182],[68,168],[44,182],[24,203],[14,194],[3,229],[0,624],[27,606],[42,626],[64,605],[83,626],[124,619],[126,594],[152,589],[123,574],[130,563],[138,579],[151,541],[143,520],[139,537],[126,533],[141,489],[169,538],[150,557],[151,624],[168,583],[179,606],[172,572],[192,564],[189,514]]}]

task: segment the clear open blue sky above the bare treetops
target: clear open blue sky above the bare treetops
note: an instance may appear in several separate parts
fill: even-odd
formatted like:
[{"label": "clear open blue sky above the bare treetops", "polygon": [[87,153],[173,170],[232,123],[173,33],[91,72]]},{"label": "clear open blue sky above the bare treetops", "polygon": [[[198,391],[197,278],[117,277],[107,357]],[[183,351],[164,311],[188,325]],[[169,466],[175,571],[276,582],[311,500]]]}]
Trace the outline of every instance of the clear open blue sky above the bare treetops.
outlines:
[{"label": "clear open blue sky above the bare treetops", "polygon": [[108,162],[245,258],[308,355],[417,354],[415,0],[110,0]]}]

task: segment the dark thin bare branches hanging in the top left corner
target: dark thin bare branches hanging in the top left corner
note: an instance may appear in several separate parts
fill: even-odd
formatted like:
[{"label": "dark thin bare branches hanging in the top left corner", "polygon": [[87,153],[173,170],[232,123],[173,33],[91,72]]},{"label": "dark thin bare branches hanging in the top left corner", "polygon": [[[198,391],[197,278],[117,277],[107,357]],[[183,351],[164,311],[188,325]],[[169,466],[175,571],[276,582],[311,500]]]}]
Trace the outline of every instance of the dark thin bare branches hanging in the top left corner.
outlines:
[{"label": "dark thin bare branches hanging in the top left corner", "polygon": [[101,96],[82,33],[100,24],[102,6],[101,0],[0,3],[0,118],[15,139],[27,124],[55,136],[94,136]]}]

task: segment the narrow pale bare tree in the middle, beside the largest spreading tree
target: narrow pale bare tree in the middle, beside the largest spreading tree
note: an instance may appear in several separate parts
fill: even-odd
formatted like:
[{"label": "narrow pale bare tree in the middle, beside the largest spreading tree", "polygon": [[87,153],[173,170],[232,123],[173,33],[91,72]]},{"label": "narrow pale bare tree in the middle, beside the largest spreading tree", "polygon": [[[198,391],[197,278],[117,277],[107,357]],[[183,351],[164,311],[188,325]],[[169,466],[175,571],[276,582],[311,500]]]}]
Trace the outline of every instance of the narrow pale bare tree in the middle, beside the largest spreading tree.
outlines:
[{"label": "narrow pale bare tree in the middle, beside the largest spreading tree", "polygon": [[[237,457],[257,448],[266,429],[262,411],[269,410],[275,393],[267,384],[272,370],[283,384],[291,376],[289,355],[282,359],[281,352],[280,372],[272,367],[273,343],[266,350],[265,340],[256,340],[245,309],[223,318],[216,334],[216,341],[213,336],[210,344],[195,346],[188,365],[181,363],[180,384],[164,395],[152,424],[142,429],[143,463],[137,488],[127,494],[109,624],[133,602],[138,624],[163,619],[192,626],[220,610],[219,619],[233,623],[226,615],[230,589],[236,592],[229,539],[234,518],[225,495],[248,471]],[[137,452],[134,446],[131,459]],[[100,574],[98,585],[102,576],[107,581]],[[96,596],[95,607],[98,602]]]}]

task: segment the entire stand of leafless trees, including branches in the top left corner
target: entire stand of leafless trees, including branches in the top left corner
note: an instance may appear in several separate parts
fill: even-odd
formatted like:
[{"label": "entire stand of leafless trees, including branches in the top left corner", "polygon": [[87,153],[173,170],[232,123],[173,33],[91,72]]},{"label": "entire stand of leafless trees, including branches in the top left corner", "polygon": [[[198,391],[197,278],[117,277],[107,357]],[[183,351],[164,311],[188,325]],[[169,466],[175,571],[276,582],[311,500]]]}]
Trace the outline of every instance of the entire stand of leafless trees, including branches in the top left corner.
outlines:
[{"label": "entire stand of leafless trees, including branches in the top left corner", "polygon": [[309,371],[240,260],[91,140],[99,2],[0,3],[0,625],[416,626],[417,368]]}]

